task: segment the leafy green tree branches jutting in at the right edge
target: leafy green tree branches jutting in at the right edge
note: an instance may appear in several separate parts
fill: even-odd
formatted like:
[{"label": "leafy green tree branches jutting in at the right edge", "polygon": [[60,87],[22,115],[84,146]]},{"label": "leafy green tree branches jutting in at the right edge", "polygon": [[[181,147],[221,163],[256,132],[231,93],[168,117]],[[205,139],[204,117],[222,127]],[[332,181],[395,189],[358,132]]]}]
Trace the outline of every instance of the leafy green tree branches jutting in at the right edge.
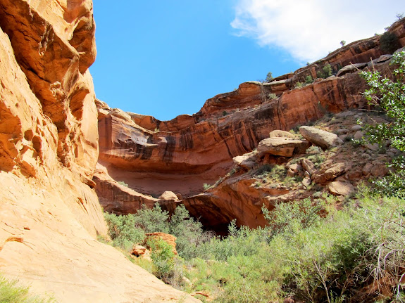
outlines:
[{"label": "leafy green tree branches jutting in at the right edge", "polygon": [[[364,96],[370,104],[380,106],[393,122],[366,125],[366,139],[378,143],[381,147],[390,141],[393,148],[405,151],[405,51],[395,53],[391,61],[396,68],[392,72],[394,79],[382,78],[378,70],[361,72],[370,89]],[[387,195],[405,198],[405,157],[396,157],[390,167],[396,169],[389,176],[377,181],[380,191]]]}]

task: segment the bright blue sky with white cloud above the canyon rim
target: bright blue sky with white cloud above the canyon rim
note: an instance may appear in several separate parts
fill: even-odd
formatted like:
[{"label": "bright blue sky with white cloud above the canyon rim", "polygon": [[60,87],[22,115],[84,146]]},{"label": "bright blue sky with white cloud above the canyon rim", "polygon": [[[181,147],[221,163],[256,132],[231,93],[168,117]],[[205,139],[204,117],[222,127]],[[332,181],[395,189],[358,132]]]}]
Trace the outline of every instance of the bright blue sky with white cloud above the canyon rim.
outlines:
[{"label": "bright blue sky with white cloud above the canyon rim", "polygon": [[342,39],[382,33],[404,13],[401,1],[94,0],[96,96],[159,120],[193,114],[242,82],[322,58]]}]

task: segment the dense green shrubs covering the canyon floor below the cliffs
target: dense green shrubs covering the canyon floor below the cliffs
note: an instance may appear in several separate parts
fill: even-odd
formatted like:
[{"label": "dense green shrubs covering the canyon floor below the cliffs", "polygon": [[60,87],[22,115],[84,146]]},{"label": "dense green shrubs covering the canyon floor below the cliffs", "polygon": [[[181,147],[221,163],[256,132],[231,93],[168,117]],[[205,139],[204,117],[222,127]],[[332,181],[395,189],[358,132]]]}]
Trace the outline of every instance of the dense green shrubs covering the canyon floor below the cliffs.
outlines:
[{"label": "dense green shrubs covering the canyon floor below the cliffs", "polygon": [[[334,202],[323,195],[263,209],[268,226],[237,228],[232,221],[226,238],[205,232],[182,206],[170,219],[158,205],[135,215],[106,214],[106,219],[113,243],[127,251],[142,243],[132,233],[174,233],[178,257],[161,241],[149,244],[151,262],[134,262],[176,288],[209,294],[214,302],[288,296],[305,302],[401,300],[405,201],[363,187],[342,210]],[[122,245],[125,241],[128,245]]]}]

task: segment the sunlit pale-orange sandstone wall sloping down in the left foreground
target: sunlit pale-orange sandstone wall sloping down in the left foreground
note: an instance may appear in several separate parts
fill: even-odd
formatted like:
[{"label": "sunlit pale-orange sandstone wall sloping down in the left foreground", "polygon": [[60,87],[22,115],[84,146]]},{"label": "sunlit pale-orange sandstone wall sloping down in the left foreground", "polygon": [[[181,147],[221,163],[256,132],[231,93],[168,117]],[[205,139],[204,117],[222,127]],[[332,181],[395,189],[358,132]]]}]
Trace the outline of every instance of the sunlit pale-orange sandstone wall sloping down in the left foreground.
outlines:
[{"label": "sunlit pale-orange sandstone wall sloping down in the left foreground", "polygon": [[58,302],[177,302],[95,240],[95,55],[92,1],[0,0],[0,271]]}]

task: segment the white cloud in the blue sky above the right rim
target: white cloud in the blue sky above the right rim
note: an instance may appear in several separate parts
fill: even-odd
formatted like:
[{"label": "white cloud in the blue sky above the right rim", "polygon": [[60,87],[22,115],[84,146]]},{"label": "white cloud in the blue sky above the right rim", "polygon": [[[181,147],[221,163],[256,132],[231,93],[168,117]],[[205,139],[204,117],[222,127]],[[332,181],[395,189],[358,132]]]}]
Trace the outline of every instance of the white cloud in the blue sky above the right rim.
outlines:
[{"label": "white cloud in the blue sky above the right rim", "polygon": [[238,36],[280,47],[301,62],[384,32],[404,13],[403,0],[238,0],[231,22]]}]

